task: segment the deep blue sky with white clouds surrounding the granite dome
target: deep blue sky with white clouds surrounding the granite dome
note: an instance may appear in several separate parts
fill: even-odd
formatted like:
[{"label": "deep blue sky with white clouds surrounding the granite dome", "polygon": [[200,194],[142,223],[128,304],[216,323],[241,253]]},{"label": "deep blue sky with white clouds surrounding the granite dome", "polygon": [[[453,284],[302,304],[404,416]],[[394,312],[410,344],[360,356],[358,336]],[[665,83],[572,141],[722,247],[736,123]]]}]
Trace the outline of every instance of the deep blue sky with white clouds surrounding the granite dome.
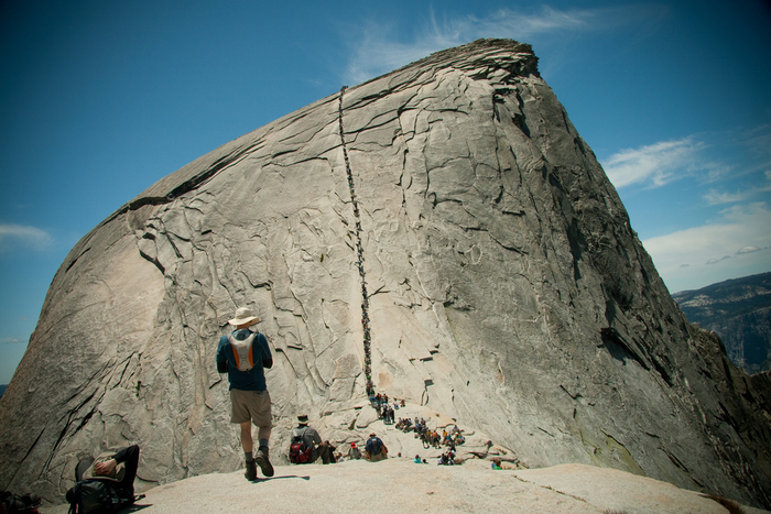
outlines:
[{"label": "deep blue sky with white clouds surrounding the granite dome", "polygon": [[312,101],[479,37],[531,43],[670,292],[771,271],[763,0],[0,2],[0,383],[88,230]]}]

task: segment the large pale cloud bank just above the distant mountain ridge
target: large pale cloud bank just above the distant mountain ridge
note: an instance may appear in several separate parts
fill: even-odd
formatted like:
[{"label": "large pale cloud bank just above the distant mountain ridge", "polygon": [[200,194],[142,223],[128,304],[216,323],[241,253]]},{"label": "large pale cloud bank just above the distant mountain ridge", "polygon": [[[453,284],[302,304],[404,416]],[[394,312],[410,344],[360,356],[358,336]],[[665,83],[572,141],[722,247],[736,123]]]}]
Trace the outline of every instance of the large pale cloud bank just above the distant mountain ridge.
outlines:
[{"label": "large pale cloud bank just above the distant mountain ridge", "polygon": [[771,271],[771,211],[764,203],[735,206],[718,222],[643,241],[670,291],[695,289]]}]

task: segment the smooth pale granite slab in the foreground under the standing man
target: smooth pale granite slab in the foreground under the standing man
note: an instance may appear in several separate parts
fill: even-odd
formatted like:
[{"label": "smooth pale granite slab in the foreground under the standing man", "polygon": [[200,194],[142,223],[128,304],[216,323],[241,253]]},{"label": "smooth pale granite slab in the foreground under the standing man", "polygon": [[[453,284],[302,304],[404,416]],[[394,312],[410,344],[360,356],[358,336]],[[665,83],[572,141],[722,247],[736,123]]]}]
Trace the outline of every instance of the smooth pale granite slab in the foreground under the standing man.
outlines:
[{"label": "smooth pale granite slab in the foreground under the standing man", "polygon": [[[585,464],[493,471],[487,461],[439,467],[409,459],[370,463],[278,466],[272,479],[242,471],[161,485],[127,512],[238,513],[725,513],[696,492],[625,471]],[[760,511],[742,507],[747,514]],[[64,514],[66,505],[44,508]]]}]

